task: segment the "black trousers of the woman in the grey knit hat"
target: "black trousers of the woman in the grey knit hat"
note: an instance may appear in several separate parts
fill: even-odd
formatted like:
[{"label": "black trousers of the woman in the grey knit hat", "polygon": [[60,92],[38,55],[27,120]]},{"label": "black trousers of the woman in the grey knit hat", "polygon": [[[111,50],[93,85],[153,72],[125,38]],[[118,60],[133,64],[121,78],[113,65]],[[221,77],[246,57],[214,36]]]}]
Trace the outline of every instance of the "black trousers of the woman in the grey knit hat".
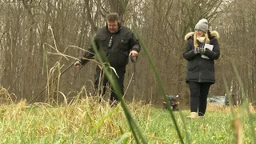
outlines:
[{"label": "black trousers of the woman in the grey knit hat", "polygon": [[206,113],[207,95],[210,82],[188,82],[190,86],[190,111],[198,112],[199,116]]}]

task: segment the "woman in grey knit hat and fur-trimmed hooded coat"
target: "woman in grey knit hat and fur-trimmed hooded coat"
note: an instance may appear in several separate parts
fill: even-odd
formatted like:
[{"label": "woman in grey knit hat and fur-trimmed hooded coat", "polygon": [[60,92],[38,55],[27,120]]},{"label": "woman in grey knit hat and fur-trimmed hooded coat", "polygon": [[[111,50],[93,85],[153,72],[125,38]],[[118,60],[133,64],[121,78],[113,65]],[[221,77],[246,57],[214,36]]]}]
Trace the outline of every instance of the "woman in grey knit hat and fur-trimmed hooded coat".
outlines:
[{"label": "woman in grey knit hat and fur-trimmed hooded coat", "polygon": [[208,30],[208,22],[201,19],[195,32],[186,34],[186,50],[183,57],[187,60],[186,82],[190,87],[190,116],[198,118],[206,113],[207,95],[215,82],[214,60],[220,55],[218,32]]}]

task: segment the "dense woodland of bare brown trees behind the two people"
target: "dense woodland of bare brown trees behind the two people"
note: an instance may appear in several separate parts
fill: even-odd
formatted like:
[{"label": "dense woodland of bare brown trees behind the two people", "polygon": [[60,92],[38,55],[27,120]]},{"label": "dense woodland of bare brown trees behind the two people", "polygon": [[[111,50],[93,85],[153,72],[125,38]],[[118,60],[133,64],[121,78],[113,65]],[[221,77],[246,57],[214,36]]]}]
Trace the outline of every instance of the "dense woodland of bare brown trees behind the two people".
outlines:
[{"label": "dense woodland of bare brown trees behind the two people", "polygon": [[[95,62],[58,76],[82,56],[98,28],[106,25],[109,12],[118,12],[123,25],[138,30],[166,93],[180,95],[183,104],[189,103],[184,37],[199,19],[207,18],[210,30],[220,34],[221,48],[210,95],[227,94],[226,83],[236,101],[256,100],[255,0],[2,0],[0,86],[14,100],[30,101],[48,84],[34,102],[93,95]],[[133,95],[132,66],[130,62],[126,70],[127,102]],[[135,96],[156,105],[163,100],[143,50],[136,63]]]}]

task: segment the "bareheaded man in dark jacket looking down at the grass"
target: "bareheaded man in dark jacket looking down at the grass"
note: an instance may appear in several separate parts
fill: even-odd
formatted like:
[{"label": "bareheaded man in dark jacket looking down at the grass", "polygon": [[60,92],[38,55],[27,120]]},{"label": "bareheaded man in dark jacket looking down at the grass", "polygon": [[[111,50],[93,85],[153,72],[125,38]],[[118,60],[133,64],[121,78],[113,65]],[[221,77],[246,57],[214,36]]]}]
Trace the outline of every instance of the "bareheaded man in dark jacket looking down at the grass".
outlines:
[{"label": "bareheaded man in dark jacket looking down at the grass", "polygon": [[[135,38],[134,33],[122,26],[119,22],[117,13],[110,13],[106,16],[106,26],[103,26],[98,30],[94,37],[96,48],[99,52],[99,57],[104,62],[108,62],[111,67],[114,67],[116,74],[112,71],[112,78],[115,78],[118,82],[118,86],[122,95],[123,82],[126,73],[126,65],[128,64],[129,56],[138,56],[140,51],[140,45],[138,39]],[[89,49],[83,54],[80,61],[75,62],[74,66],[80,67],[88,62],[86,59],[94,57],[94,48],[90,45]],[[96,68],[94,89],[97,90],[98,95],[104,95],[106,91],[106,84],[109,80],[104,77],[102,70],[99,66]],[[118,102],[117,94],[115,94],[113,88],[111,88],[110,105],[114,102]]]}]

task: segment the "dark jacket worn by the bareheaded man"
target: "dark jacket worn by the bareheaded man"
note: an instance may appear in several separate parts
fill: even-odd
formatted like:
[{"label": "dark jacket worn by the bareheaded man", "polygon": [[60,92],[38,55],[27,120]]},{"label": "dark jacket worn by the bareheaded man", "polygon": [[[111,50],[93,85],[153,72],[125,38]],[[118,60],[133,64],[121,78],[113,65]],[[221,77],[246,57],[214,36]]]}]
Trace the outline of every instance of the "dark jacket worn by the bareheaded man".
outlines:
[{"label": "dark jacket worn by the bareheaded man", "polygon": [[[110,44],[111,37],[112,44]],[[110,33],[107,26],[102,27],[95,35],[94,42],[103,62],[109,62],[113,67],[125,67],[129,61],[130,51],[140,51],[140,45],[134,33],[121,23],[118,23],[118,31],[114,34]],[[94,54],[94,48],[90,45],[83,54],[83,58],[92,58]],[[82,64],[86,62],[88,61],[81,59]]]}]

